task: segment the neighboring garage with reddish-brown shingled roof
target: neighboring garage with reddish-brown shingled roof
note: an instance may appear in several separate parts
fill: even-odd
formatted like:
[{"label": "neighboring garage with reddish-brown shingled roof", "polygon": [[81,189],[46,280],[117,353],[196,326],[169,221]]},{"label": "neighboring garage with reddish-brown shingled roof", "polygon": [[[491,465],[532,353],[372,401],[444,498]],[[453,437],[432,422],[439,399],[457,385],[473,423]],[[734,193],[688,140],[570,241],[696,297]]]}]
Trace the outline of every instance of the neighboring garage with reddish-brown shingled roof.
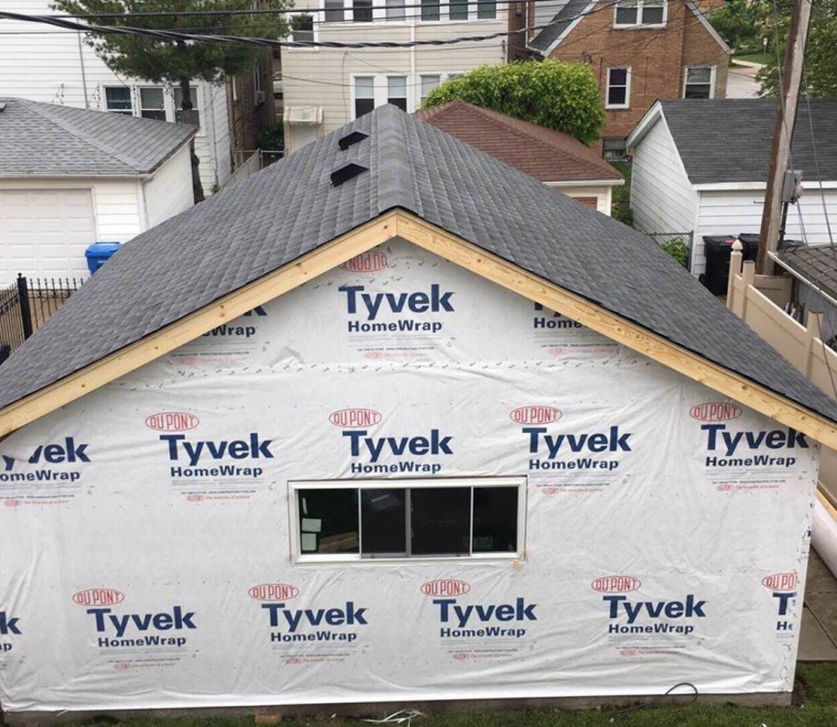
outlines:
[{"label": "neighboring garage with reddish-brown shingled roof", "polygon": [[415,116],[606,215],[610,215],[613,187],[624,184],[622,175],[595,151],[561,131],[460,100]]}]

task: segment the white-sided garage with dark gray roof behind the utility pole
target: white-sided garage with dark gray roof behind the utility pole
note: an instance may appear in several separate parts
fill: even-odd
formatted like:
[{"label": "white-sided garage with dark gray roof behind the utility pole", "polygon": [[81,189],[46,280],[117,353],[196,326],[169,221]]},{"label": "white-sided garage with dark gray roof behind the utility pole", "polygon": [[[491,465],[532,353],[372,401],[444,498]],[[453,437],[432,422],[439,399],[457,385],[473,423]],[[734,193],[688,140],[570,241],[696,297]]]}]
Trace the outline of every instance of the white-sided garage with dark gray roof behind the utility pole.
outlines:
[{"label": "white-sided garage with dark gray roof behind the utility pole", "polygon": [[[634,226],[694,232],[695,274],[705,269],[704,235],[758,234],[775,118],[774,99],[655,104],[628,140]],[[836,137],[837,99],[811,99],[811,116],[800,102],[791,164],[802,171],[806,191],[789,209],[787,239],[829,241],[829,219],[837,219]]]}]

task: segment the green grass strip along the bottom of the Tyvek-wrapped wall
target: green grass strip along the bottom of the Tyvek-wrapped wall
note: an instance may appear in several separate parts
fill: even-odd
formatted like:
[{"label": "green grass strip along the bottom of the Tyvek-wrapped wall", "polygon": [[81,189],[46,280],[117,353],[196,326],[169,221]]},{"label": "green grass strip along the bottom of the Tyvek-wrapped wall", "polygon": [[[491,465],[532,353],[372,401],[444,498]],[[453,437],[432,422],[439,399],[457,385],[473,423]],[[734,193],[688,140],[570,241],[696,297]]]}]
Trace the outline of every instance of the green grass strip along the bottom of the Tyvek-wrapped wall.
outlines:
[{"label": "green grass strip along the bottom of the Tyvek-wrapped wall", "polygon": [[[803,704],[795,707],[736,707],[731,705],[649,706],[588,712],[532,712],[449,714],[416,717],[411,727],[835,727],[837,725],[837,664],[798,664],[798,691]],[[278,714],[282,713],[276,707]],[[387,716],[380,714],[379,718]],[[87,724],[97,724],[89,721]],[[106,721],[98,723],[101,725]],[[110,724],[113,724],[112,721]],[[132,727],[252,727],[253,717],[162,718],[143,715]],[[320,715],[285,717],[280,727],[367,727],[362,719]],[[406,723],[402,723],[405,727]]]}]

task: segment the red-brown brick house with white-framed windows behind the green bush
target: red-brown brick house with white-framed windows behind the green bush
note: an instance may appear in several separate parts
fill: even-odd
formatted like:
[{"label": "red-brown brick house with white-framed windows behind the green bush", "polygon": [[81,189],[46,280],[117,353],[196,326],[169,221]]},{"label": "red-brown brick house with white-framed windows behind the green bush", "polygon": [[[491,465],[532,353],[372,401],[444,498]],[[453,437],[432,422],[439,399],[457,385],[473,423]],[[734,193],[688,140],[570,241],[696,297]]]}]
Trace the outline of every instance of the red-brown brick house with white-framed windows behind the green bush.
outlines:
[{"label": "red-brown brick house with white-framed windows behind the green bush", "polygon": [[[706,19],[720,6],[724,0],[568,0],[529,48],[590,65],[607,115],[601,150],[618,159],[657,99],[724,98],[729,47]],[[530,17],[543,22],[542,12],[533,3]]]}]

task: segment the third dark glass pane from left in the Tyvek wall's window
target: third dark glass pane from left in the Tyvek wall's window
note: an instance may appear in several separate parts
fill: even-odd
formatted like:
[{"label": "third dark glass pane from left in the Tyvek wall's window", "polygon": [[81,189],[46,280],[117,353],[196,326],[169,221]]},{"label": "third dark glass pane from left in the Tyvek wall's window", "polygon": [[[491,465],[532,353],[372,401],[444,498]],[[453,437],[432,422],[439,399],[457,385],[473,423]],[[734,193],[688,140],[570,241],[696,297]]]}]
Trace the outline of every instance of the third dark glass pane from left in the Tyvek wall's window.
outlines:
[{"label": "third dark glass pane from left in the Tyvek wall's window", "polygon": [[470,554],[469,487],[411,490],[413,555]]}]

